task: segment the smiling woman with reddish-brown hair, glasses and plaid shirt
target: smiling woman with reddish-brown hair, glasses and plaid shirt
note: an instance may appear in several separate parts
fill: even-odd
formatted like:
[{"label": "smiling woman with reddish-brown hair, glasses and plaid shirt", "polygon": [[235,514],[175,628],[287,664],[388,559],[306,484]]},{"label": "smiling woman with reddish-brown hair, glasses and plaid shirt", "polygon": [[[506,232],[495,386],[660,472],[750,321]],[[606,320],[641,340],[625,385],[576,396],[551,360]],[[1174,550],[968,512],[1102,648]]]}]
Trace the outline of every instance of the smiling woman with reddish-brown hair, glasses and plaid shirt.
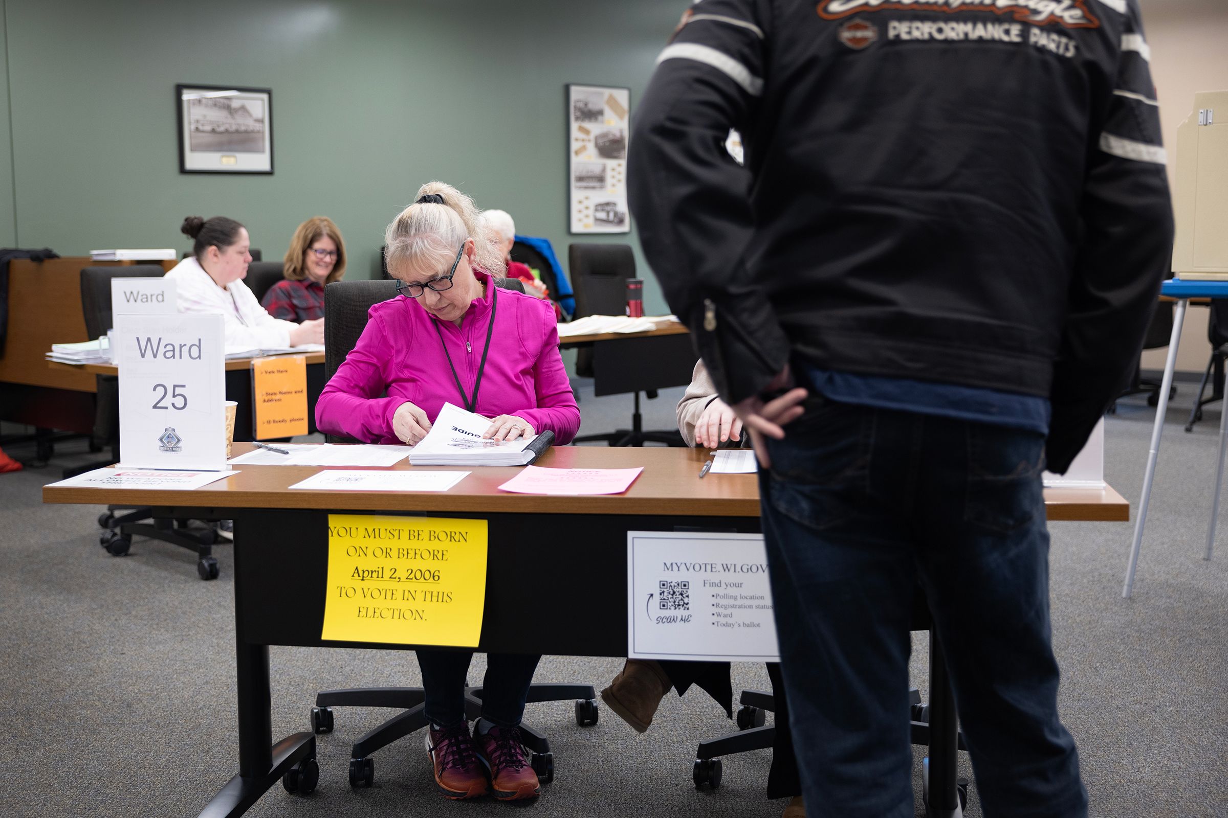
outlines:
[{"label": "smiling woman with reddish-brown hair, glasses and plaid shirt", "polygon": [[345,242],[327,216],[308,218],[286,250],[285,281],[269,287],[260,304],[273,318],[312,321],[324,318],[324,285],[345,275]]}]

